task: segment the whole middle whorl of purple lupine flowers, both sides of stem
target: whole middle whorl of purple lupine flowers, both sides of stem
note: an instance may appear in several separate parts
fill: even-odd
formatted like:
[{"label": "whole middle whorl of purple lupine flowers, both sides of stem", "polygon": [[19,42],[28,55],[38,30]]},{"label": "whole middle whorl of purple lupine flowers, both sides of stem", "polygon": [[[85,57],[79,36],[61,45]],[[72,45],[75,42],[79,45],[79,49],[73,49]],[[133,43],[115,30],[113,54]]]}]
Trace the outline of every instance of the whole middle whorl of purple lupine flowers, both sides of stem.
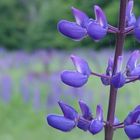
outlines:
[{"label": "whole middle whorl of purple lupine flowers, both sides of stem", "polygon": [[[140,77],[140,65],[137,64],[140,59],[140,51],[136,50],[130,55],[126,69],[122,71],[123,57],[118,57],[116,74],[113,75],[113,59],[109,58],[108,65],[105,74],[98,74],[92,72],[89,68],[88,63],[75,55],[71,55],[73,64],[75,65],[76,71],[65,70],[61,73],[61,80],[72,87],[81,87],[87,83],[89,76],[98,76],[104,85],[113,85],[115,88],[121,88],[125,84],[139,80]],[[112,76],[113,75],[113,76]]]}]

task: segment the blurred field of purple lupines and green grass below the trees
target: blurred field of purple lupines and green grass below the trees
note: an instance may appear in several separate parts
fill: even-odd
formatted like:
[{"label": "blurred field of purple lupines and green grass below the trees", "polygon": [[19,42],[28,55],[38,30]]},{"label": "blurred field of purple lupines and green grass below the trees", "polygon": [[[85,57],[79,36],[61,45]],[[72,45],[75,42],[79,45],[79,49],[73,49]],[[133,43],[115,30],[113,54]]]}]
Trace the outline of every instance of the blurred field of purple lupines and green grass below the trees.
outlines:
[{"label": "blurred field of purple lupines and green grass below the trees", "polygon": [[[92,108],[93,113],[100,102],[104,112],[107,110],[108,87],[102,84],[99,86],[99,79],[90,78],[88,84],[80,89],[68,87],[61,82],[60,72],[63,69],[74,69],[69,59],[70,54],[88,60],[92,70],[99,73],[104,72],[108,56],[113,55],[111,50],[38,50],[32,53],[0,50],[0,140],[102,139],[103,132],[95,136],[78,129],[62,133],[46,123],[48,113],[61,113],[58,100],[80,110],[77,101],[82,99]],[[130,52],[125,52],[125,61],[129,54]],[[116,114],[120,121],[139,102],[139,92],[139,81],[128,84],[119,91]],[[115,134],[115,140],[127,140],[122,131],[116,131]]]}]

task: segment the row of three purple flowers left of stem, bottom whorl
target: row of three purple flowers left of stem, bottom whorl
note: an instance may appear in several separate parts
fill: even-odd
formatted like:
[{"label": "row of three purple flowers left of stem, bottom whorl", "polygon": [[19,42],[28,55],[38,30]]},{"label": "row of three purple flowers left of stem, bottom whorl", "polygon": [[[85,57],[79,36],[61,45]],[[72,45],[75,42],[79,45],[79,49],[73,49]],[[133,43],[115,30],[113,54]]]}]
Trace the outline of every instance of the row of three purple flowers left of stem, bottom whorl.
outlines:
[{"label": "row of three purple flowers left of stem, bottom whorl", "polygon": [[83,101],[79,101],[82,116],[74,108],[63,102],[59,102],[59,106],[64,116],[48,115],[47,122],[50,126],[64,132],[71,131],[76,126],[92,134],[97,134],[102,130],[103,110],[100,105],[96,109],[96,118],[92,117],[89,107]]}]

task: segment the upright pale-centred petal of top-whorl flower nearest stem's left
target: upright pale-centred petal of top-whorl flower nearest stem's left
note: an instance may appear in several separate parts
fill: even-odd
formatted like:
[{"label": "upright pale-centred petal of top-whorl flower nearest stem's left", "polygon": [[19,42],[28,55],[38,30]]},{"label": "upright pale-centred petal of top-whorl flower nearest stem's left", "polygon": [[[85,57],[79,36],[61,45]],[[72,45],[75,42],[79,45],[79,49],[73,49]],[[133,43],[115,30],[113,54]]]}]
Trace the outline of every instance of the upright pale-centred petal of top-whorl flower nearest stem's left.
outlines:
[{"label": "upright pale-centred petal of top-whorl flower nearest stem's left", "polygon": [[94,12],[95,12],[95,17],[96,17],[97,23],[101,27],[107,29],[108,28],[108,23],[107,23],[107,19],[106,19],[106,16],[105,16],[103,10],[98,5],[95,5],[94,6]]}]

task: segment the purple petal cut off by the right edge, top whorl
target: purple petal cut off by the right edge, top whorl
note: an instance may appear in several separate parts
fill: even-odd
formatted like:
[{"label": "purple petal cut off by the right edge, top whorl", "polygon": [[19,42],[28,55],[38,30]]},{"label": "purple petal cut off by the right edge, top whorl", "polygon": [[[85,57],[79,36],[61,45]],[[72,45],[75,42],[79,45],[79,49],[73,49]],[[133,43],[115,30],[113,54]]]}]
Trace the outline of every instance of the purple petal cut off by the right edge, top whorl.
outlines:
[{"label": "purple petal cut off by the right edge, top whorl", "polygon": [[137,19],[134,26],[134,36],[138,41],[140,41],[140,17]]}]

